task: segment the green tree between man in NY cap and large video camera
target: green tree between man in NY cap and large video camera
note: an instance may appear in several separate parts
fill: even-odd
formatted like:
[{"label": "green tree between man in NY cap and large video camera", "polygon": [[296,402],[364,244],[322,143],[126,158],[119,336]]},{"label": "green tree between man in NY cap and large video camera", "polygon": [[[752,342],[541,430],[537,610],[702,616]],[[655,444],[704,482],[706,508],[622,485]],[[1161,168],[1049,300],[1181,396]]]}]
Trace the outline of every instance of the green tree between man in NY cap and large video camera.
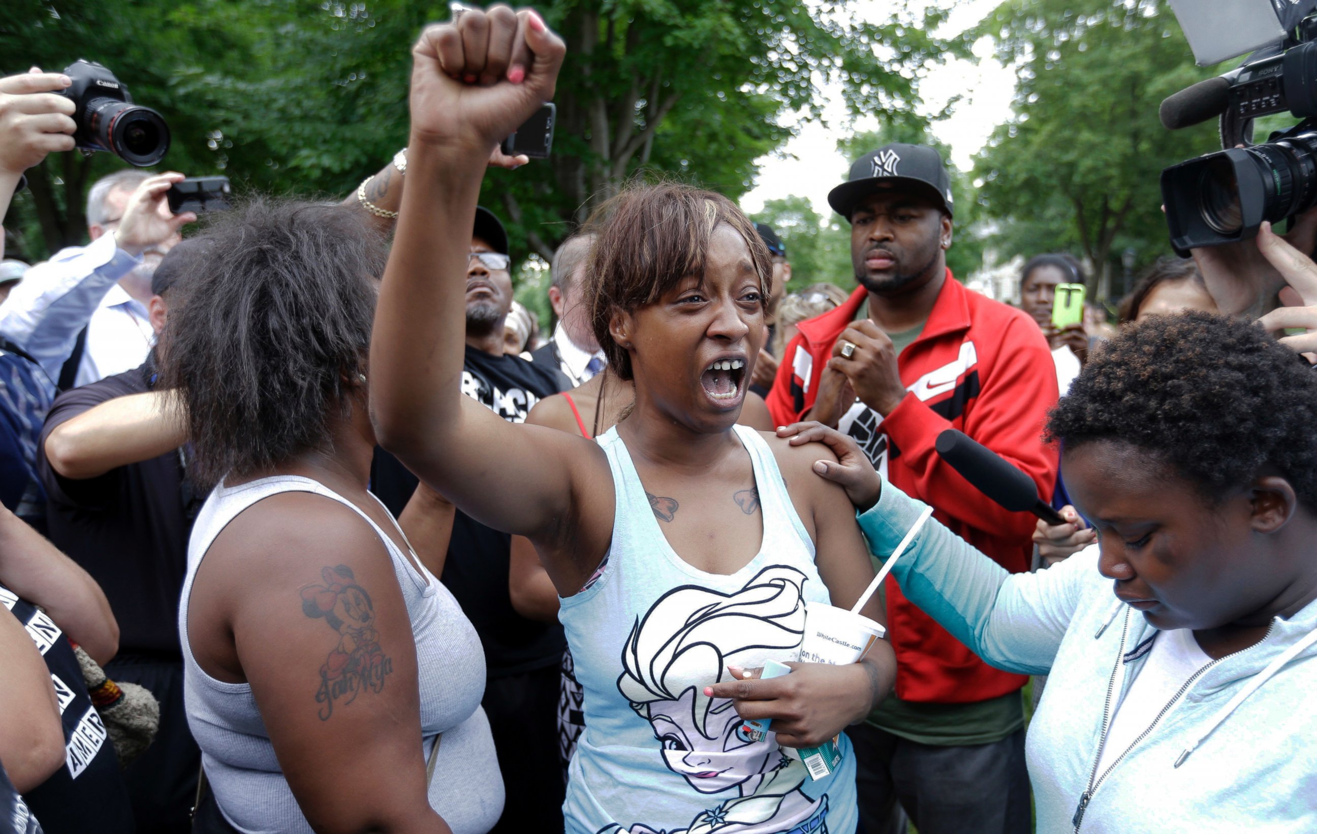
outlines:
[{"label": "green tree between man in NY cap and large video camera", "polygon": [[1025,257],[1071,250],[1101,278],[1133,248],[1169,252],[1162,169],[1216,148],[1212,125],[1169,132],[1158,105],[1206,78],[1162,0],[1009,0],[980,28],[1019,66],[1013,117],[975,175],[993,245]]}]

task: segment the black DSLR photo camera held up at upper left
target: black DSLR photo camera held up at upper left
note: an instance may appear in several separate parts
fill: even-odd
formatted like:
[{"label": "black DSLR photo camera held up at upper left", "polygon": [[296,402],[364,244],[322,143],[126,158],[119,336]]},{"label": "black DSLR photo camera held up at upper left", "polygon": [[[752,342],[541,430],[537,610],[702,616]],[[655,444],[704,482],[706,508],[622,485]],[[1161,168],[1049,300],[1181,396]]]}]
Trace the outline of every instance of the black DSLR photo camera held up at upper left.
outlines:
[{"label": "black DSLR photo camera held up at upper left", "polygon": [[133,104],[115,74],[94,61],[78,59],[65,67],[72,84],[62,95],[72,99],[76,148],[108,150],[124,162],[148,167],[169,150],[169,125],[149,107]]}]

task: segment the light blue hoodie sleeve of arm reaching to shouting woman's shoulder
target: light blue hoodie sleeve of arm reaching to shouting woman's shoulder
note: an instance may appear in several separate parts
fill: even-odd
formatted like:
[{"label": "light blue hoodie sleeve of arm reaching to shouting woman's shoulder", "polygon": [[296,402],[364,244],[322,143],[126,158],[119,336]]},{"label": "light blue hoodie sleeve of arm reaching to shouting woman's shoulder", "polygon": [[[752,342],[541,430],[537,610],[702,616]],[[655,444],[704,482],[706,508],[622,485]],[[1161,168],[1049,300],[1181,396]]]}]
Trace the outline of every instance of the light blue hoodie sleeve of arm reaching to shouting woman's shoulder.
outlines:
[{"label": "light blue hoodie sleeve of arm reaching to shouting woman's shoulder", "polygon": [[[882,482],[860,530],[880,560],[897,548],[925,503]],[[1080,599],[1097,574],[1096,548],[1036,573],[1009,573],[964,539],[928,519],[892,568],[907,599],[986,663],[1047,675]]]}]

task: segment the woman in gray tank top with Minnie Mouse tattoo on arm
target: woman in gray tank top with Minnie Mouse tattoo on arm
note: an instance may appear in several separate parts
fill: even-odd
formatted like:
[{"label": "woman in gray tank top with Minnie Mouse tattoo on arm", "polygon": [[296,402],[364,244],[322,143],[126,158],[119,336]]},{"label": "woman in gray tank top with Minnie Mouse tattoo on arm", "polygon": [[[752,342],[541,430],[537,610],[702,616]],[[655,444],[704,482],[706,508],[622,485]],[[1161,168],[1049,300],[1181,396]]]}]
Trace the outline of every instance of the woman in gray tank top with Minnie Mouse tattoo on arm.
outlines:
[{"label": "woman in gray tank top with Minnie Mouse tattoo on arm", "polygon": [[202,240],[161,340],[190,472],[219,481],[179,605],[198,829],[487,831],[479,639],[366,489],[383,242],[356,209],[273,202]]}]

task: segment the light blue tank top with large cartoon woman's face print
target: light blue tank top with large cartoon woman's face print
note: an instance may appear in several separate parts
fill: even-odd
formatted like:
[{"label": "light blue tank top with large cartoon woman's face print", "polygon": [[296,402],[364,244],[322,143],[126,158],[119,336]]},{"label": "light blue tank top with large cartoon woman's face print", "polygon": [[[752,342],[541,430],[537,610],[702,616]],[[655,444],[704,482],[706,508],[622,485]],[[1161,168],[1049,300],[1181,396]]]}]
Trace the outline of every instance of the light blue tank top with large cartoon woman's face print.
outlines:
[{"label": "light blue tank top with large cartoon woman's face print", "polygon": [[[810,781],[769,733],[745,738],[731,701],[703,688],[727,665],[794,660],[805,601],[830,602],[777,461],[759,432],[735,427],[751,456],[764,540],[732,574],[705,573],[668,544],[626,444],[599,437],[616,513],[602,572],[562,599],[585,733],[564,812],[573,834],[851,834],[855,756]],[[731,503],[731,502],[728,502]]]}]

